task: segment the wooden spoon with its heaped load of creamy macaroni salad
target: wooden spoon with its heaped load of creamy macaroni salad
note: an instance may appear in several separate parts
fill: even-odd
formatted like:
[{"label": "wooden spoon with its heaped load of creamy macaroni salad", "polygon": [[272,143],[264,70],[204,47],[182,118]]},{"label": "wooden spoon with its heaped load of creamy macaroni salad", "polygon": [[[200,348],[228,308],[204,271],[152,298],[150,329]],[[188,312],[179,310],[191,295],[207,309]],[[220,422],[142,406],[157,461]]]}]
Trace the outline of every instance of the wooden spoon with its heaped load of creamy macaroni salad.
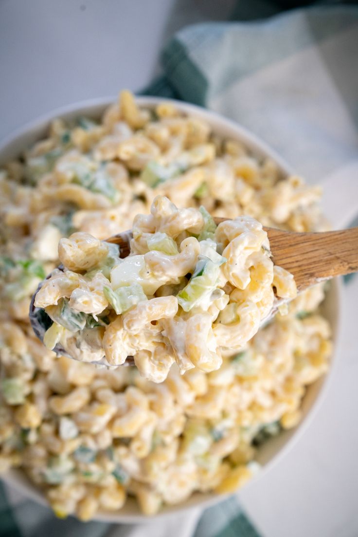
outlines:
[{"label": "wooden spoon with its heaped load of creamy macaroni salad", "polygon": [[157,196],[131,231],[74,233],[59,258],[33,296],[36,335],[59,354],[135,364],[162,382],[174,361],[182,373],[220,368],[297,292],[358,270],[358,228],[292,233]]}]

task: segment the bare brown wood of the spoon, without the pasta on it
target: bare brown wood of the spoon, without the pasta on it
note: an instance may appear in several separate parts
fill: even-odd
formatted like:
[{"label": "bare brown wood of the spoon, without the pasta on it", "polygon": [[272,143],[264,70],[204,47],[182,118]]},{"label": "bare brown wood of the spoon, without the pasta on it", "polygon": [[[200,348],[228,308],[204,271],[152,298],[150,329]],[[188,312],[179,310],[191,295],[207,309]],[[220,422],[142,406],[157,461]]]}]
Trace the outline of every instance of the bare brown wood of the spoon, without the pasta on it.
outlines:
[{"label": "bare brown wood of the spoon, without the pasta on it", "polygon": [[[214,220],[218,224],[229,219],[214,218]],[[358,271],[358,227],[324,233],[294,233],[266,227],[264,230],[268,235],[274,264],[294,275],[298,293],[334,276]],[[131,237],[129,230],[109,237],[106,242],[118,244],[120,257],[123,258],[130,253]],[[60,266],[59,269],[61,268],[63,270]],[[35,335],[42,341],[52,321],[44,310],[34,306],[34,298],[39,288],[32,297],[30,321]],[[272,313],[264,322],[276,313],[282,302],[284,300],[275,299]],[[57,354],[68,355],[59,345],[56,345],[54,351]],[[129,356],[123,365],[134,365],[133,357]]]}]

